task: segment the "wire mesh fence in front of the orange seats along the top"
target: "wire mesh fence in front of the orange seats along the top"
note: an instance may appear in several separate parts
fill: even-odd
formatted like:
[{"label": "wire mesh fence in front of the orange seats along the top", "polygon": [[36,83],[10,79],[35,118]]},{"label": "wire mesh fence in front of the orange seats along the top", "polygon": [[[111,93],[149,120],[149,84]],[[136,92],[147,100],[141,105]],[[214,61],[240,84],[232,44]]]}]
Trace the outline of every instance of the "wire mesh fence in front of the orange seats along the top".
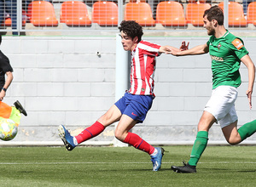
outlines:
[{"label": "wire mesh fence in front of the orange seats along the top", "polygon": [[[203,31],[205,9],[218,0],[0,0],[1,31],[7,35],[87,35],[117,31],[121,20],[136,20],[150,31]],[[228,27],[256,30],[256,2],[230,1]]]}]

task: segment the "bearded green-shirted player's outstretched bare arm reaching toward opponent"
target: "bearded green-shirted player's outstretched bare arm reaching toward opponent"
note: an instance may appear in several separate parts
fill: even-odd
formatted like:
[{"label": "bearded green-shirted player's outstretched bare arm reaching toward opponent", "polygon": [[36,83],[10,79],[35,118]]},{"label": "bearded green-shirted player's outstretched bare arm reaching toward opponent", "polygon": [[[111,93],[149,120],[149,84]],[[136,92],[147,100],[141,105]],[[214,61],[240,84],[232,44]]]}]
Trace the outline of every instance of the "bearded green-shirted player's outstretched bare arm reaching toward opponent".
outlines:
[{"label": "bearded green-shirted player's outstretched bare arm reaching toward opponent", "polygon": [[188,50],[179,50],[179,51],[172,51],[172,55],[174,56],[185,56],[185,55],[196,55],[196,54],[207,54],[209,52],[209,47],[207,43],[203,45],[198,45],[195,48],[190,48]]}]

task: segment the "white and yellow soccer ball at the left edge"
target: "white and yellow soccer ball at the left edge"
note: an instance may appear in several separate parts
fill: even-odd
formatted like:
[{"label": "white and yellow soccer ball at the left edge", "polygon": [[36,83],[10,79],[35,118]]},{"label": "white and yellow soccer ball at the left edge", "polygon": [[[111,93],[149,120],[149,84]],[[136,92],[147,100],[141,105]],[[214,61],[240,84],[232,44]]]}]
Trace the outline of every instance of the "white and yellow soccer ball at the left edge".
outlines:
[{"label": "white and yellow soccer ball at the left edge", "polygon": [[10,120],[0,117],[0,139],[9,141],[18,133],[18,125]]}]

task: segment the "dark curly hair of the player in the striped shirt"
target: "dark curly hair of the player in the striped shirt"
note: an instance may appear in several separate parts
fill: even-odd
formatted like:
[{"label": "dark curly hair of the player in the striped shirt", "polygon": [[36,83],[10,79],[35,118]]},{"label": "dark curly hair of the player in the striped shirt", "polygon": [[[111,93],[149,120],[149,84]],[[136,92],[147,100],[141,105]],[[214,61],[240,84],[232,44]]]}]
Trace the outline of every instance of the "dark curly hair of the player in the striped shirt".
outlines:
[{"label": "dark curly hair of the player in the striped shirt", "polygon": [[119,31],[123,31],[128,37],[131,37],[132,39],[137,37],[138,42],[141,42],[143,37],[143,27],[134,20],[123,20],[120,23]]}]

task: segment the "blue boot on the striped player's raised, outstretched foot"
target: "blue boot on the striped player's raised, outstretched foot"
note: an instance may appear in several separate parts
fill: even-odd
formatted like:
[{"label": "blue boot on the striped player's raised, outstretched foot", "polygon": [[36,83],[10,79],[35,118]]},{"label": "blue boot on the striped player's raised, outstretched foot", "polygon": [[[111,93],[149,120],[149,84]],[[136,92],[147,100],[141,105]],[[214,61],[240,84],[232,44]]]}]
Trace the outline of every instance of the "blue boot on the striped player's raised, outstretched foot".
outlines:
[{"label": "blue boot on the striped player's raised, outstretched foot", "polygon": [[59,131],[59,136],[62,139],[63,143],[66,146],[67,150],[73,150],[77,145],[73,143],[73,136],[70,135],[70,133],[67,131],[67,129],[63,126],[60,125],[58,128]]}]

